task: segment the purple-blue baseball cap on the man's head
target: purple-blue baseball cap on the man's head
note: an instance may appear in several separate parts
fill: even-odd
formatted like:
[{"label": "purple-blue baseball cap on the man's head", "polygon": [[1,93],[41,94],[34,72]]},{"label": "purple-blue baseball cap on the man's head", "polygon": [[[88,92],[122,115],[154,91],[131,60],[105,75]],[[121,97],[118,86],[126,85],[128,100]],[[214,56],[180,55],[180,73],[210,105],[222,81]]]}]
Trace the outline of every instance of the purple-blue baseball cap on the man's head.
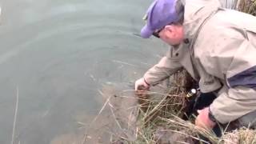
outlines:
[{"label": "purple-blue baseball cap on the man's head", "polygon": [[141,30],[142,38],[150,38],[155,30],[178,21],[175,10],[177,0],[155,0],[146,11],[146,26]]}]

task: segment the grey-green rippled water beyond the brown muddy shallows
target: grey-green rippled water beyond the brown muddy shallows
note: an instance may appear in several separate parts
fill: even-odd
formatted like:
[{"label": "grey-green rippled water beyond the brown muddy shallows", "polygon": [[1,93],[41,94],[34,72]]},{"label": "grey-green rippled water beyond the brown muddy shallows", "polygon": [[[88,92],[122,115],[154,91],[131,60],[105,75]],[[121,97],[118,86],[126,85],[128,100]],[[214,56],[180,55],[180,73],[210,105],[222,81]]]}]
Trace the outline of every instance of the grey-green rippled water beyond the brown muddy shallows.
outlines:
[{"label": "grey-green rippled water beyond the brown muddy shallows", "polygon": [[128,85],[166,51],[136,36],[151,1],[0,0],[0,143],[45,144],[93,118],[103,84]]}]

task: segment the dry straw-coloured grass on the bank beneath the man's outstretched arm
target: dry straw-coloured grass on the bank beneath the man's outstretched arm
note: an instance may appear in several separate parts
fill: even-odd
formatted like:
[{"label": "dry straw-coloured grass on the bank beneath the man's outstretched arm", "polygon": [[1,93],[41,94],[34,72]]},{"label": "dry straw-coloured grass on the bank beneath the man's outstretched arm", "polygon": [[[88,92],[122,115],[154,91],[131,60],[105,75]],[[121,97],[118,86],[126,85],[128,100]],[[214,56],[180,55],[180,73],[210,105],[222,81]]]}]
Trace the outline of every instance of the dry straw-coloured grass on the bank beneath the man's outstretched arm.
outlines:
[{"label": "dry straw-coloured grass on the bank beneath the man's outstretched arm", "polygon": [[[227,132],[222,130],[222,138],[218,138],[213,131],[204,130],[194,125],[194,118],[189,121],[182,119],[186,107],[187,81],[186,73],[180,71],[174,75],[172,87],[166,93],[138,91],[138,105],[140,107],[136,123],[136,138],[129,141],[125,138],[122,143],[127,144],[164,144],[164,143],[212,143],[212,144],[256,144],[256,130],[241,128]],[[189,86],[190,87],[190,86]],[[159,98],[162,96],[162,98]],[[201,135],[201,137],[199,137]],[[202,136],[208,141],[202,139]],[[117,139],[117,138],[115,138]],[[118,141],[120,143],[120,141]],[[113,142],[115,144],[115,142]]]}]

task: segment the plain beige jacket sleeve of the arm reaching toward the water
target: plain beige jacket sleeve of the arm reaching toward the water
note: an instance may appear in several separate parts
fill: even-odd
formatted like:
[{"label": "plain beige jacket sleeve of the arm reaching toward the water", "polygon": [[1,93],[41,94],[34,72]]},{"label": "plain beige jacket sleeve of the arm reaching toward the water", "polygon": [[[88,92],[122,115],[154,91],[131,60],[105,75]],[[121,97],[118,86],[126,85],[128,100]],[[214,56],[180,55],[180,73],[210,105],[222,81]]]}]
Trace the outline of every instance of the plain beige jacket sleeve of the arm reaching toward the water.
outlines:
[{"label": "plain beige jacket sleeve of the arm reaching toward the water", "polygon": [[172,54],[173,48],[170,47],[166,53],[166,56],[161,58],[158,64],[154,65],[150,68],[150,70],[146,71],[144,78],[147,83],[154,86],[182,68],[178,58],[174,58]]}]

